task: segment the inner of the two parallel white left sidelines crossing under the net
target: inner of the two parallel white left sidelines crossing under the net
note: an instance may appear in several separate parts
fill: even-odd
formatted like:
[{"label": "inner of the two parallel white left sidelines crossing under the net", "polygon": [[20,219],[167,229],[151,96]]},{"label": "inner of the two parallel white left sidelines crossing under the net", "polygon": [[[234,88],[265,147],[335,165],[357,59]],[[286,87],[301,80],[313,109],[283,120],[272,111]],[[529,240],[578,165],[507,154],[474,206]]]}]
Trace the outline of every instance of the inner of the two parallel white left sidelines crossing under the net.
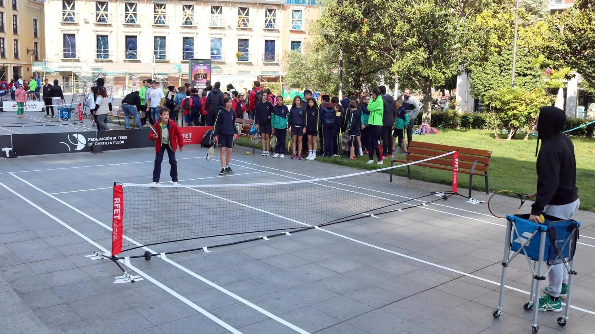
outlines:
[{"label": "inner of the two parallel white left sidelines crossing under the net", "polygon": [[[56,201],[62,203],[63,205],[67,206],[68,208],[72,209],[73,211],[77,212],[80,215],[83,215],[83,217],[88,218],[89,220],[96,222],[97,224],[101,225],[102,227],[107,228],[107,230],[111,231],[112,228],[109,227],[108,225],[105,225],[103,222],[96,220],[95,218],[91,217],[90,215],[87,215],[85,212],[80,211],[79,209],[75,208],[74,206],[70,205],[69,203],[62,201],[60,198],[57,198],[53,195],[51,195],[50,193],[46,192],[43,189],[40,189],[39,187],[33,185],[32,183],[28,182],[27,180],[21,179],[21,177],[16,176],[15,174],[10,173],[11,176],[15,177],[18,180],[21,180],[21,182],[25,183],[26,185],[29,185],[30,187],[32,187],[33,189],[36,189],[37,191],[49,196],[52,199],[55,199]],[[0,183],[1,185],[2,183]],[[192,188],[189,188],[192,189]],[[209,194],[210,195],[210,194]],[[129,240],[131,243],[136,244],[137,246],[142,246],[140,243],[138,243],[137,241],[127,237],[127,236],[123,236],[124,238],[126,238],[126,240]],[[101,246],[100,246],[101,247]],[[104,250],[103,247],[101,247],[102,250]],[[151,253],[157,253],[154,250],[150,249],[149,247],[146,246],[142,246],[142,249],[148,250]],[[251,308],[253,308],[254,310],[258,311],[259,313],[264,314],[267,317],[270,317],[271,319],[275,320],[278,323],[281,323],[281,325],[284,325],[286,327],[289,327],[290,329],[295,330],[296,332],[300,333],[300,334],[311,334],[309,332],[306,332],[306,330],[301,329],[300,327],[297,327],[296,325],[293,325],[290,322],[287,322],[287,320],[281,319],[281,317],[275,316],[275,314],[270,313],[269,311],[265,310],[262,307],[257,306],[256,304],[251,303],[250,301],[240,297],[239,295],[234,294],[233,292],[227,290],[226,288],[221,287],[220,285],[215,284],[214,282],[209,281],[208,279],[202,277],[201,275],[198,275],[198,273],[195,273],[193,271],[191,271],[190,269],[180,265],[177,262],[174,262],[173,260],[170,260],[167,258],[167,256],[161,256],[158,255],[157,257],[161,258],[162,260],[164,260],[167,263],[170,263],[171,265],[175,266],[176,268],[179,268],[181,271],[184,271],[186,273],[188,273],[189,275],[193,276],[194,278],[199,279],[202,282],[205,282],[208,285],[211,285],[211,287],[223,292],[224,294],[230,296],[231,298],[234,298],[235,300],[239,301],[240,303],[245,304],[246,306],[249,306]],[[130,269],[133,269],[134,271],[137,271],[137,269],[134,269],[132,266],[130,267]],[[184,298],[185,299],[185,298]],[[198,307],[198,306],[197,306]],[[210,314],[210,313],[209,313]],[[239,332],[238,332],[239,333]]]}]

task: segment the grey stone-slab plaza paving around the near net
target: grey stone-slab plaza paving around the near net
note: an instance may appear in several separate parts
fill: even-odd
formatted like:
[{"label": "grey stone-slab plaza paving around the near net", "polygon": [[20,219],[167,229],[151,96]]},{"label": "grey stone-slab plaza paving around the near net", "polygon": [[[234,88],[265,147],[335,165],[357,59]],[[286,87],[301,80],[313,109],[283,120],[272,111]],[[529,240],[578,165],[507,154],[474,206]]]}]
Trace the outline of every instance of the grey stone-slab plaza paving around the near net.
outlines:
[{"label": "grey stone-slab plaza paving around the near net", "polygon": [[[217,177],[218,161],[205,161],[206,149],[187,147],[177,154],[180,179],[212,178],[180,183],[289,181],[355,171],[239,154],[243,151],[234,150],[236,174]],[[65,225],[110,249],[111,232],[99,223],[111,225],[111,186],[150,182],[153,159],[151,149],[136,149],[0,162],[2,333],[531,331],[531,314],[522,310],[528,296],[522,292],[506,290],[505,313],[491,316],[506,222],[488,215],[485,204],[461,197],[210,253],[169,255],[177,266],[159,257],[131,259],[139,270],[134,275],[145,279],[113,284],[120,269],[109,260],[85,257],[98,248]],[[163,169],[165,177],[167,162]],[[482,193],[474,196],[487,200]],[[541,313],[539,333],[593,333],[595,214],[581,211],[575,218],[583,230],[572,304],[588,312],[573,309],[565,327],[556,323],[560,313]],[[519,257],[509,266],[507,284],[528,291],[530,277],[526,260]]]}]

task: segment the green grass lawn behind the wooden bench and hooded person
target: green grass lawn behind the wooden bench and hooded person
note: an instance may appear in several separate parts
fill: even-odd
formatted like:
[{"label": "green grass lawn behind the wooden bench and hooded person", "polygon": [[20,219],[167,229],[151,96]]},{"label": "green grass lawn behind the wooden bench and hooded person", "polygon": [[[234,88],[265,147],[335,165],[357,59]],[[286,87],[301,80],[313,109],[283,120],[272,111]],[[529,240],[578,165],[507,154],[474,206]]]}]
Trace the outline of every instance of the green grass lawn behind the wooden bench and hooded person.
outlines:
[{"label": "green grass lawn behind the wooden bench and hooded person", "polygon": [[[505,138],[505,135],[502,138]],[[492,156],[488,175],[491,191],[510,189],[519,193],[534,192],[537,182],[535,169],[536,137],[531,136],[528,141],[522,140],[521,137],[512,141],[501,140],[502,138],[499,140],[494,139],[491,131],[457,129],[440,129],[438,135],[414,135],[414,141],[490,150]],[[571,139],[574,142],[577,157],[577,186],[581,198],[581,209],[595,211],[595,140],[585,137],[571,137]],[[252,147],[248,138],[240,138],[239,141],[236,141],[236,144]],[[260,144],[258,147],[260,147]],[[251,150],[250,153],[252,153]],[[259,154],[259,151],[257,153]],[[377,166],[375,163],[368,165],[366,164],[368,161],[367,156],[358,157],[358,160],[355,161],[345,161],[343,157],[317,157],[316,160],[367,170],[389,166],[386,163],[384,166]],[[414,174],[419,176],[414,175],[416,179],[437,183],[449,182],[443,171],[424,167],[419,167],[416,171],[417,173]],[[403,174],[403,172],[399,174]],[[468,175],[459,174],[459,192],[465,193],[464,189],[468,185]],[[485,190],[483,177],[474,177],[473,189]]]}]

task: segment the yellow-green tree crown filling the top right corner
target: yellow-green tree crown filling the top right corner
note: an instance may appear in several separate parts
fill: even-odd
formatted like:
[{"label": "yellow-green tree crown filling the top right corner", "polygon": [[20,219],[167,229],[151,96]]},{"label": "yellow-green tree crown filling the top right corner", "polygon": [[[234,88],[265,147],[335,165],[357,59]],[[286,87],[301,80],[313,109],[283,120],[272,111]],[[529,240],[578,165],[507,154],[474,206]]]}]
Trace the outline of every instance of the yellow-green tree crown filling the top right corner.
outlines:
[{"label": "yellow-green tree crown filling the top right corner", "polygon": [[558,61],[555,66],[575,69],[595,87],[595,0],[577,0],[571,8],[553,15],[550,20],[548,58]]}]

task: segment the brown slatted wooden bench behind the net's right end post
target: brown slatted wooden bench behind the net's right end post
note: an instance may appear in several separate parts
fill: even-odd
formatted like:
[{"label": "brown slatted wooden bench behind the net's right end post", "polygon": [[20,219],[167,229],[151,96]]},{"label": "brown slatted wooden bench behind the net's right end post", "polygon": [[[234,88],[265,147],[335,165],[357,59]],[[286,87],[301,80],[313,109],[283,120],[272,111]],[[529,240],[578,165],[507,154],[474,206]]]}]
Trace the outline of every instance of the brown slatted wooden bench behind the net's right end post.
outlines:
[{"label": "brown slatted wooden bench behind the net's right end post", "polygon": [[[414,161],[420,161],[431,157],[436,157],[447,152],[459,151],[459,173],[469,174],[469,198],[471,198],[471,189],[473,186],[473,176],[479,175],[486,179],[486,194],[490,193],[488,186],[487,171],[490,167],[491,151],[484,149],[456,147],[450,145],[430,144],[427,142],[411,142],[409,154],[402,155],[403,159],[396,158],[390,162],[390,166],[394,163],[412,163]],[[442,158],[427,161],[425,163],[419,163],[418,166],[436,168],[440,170],[453,170],[453,155],[449,154]],[[409,180],[411,180],[411,170],[407,166],[407,174]],[[390,173],[390,182],[393,181],[392,170]]]}]

